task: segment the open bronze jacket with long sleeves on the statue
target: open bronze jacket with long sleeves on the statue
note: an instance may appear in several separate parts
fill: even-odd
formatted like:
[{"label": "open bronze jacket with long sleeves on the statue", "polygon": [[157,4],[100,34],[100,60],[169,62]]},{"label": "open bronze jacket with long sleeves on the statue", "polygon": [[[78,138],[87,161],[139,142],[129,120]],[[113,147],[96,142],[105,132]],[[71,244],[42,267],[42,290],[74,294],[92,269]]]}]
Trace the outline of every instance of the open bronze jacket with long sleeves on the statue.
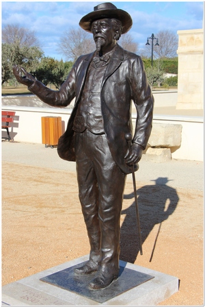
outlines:
[{"label": "open bronze jacket with long sleeves on the statue", "polygon": [[[64,160],[74,161],[74,131],[72,125],[85,84],[87,69],[94,53],[81,56],[74,63],[66,81],[58,91],[47,88],[36,80],[29,90],[50,106],[66,107],[75,99],[74,108],[66,132],[59,138],[58,154]],[[148,85],[141,58],[135,53],[116,46],[101,88],[102,119],[109,149],[118,167],[124,173],[131,173],[124,162],[128,149],[124,135],[132,133],[132,100],[137,109],[133,143],[146,148],[152,129],[154,98]]]}]

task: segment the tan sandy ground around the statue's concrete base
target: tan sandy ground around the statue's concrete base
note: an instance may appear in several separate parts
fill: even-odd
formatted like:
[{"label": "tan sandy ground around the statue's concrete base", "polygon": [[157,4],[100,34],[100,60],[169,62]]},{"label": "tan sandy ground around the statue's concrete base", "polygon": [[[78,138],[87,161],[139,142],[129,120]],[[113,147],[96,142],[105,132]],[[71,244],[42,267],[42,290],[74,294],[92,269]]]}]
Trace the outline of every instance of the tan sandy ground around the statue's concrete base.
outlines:
[{"label": "tan sandy ground around the statue's concrete base", "polygon": [[[129,181],[121,216],[120,258],[179,278],[178,293],[161,305],[203,305],[202,191],[156,182],[137,182],[137,187],[143,256]],[[89,243],[75,173],[4,161],[3,285],[85,254]]]}]

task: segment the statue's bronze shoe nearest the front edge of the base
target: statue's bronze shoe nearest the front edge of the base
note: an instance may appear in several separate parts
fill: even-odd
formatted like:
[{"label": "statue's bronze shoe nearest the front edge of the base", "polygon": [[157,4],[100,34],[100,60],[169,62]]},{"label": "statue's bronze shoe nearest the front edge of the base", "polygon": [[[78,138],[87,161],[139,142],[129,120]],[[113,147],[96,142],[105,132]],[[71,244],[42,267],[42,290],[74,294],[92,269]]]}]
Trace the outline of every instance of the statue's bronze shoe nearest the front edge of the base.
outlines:
[{"label": "statue's bronze shoe nearest the front edge of the base", "polygon": [[91,290],[106,288],[117,279],[118,279],[118,274],[113,274],[113,273],[108,274],[103,271],[98,271],[96,277],[90,282],[89,288]]}]

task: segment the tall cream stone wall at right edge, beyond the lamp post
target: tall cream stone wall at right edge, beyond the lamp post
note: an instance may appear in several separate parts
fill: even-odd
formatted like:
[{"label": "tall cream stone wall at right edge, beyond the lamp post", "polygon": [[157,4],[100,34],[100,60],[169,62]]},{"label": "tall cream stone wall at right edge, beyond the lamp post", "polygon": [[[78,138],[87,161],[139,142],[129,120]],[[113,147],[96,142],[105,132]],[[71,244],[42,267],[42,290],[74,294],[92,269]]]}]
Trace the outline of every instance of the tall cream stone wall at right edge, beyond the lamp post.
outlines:
[{"label": "tall cream stone wall at right edge, beyond the lamp post", "polygon": [[203,109],[204,30],[178,31],[177,109]]}]

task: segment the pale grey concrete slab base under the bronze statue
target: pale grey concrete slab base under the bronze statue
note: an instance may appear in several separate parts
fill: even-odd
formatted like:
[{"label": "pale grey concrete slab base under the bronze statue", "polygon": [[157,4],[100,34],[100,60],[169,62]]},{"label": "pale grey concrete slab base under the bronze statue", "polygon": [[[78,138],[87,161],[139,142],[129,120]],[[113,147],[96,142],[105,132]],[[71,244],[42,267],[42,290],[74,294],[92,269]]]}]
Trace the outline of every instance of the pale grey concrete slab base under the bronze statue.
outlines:
[{"label": "pale grey concrete slab base under the bronze statue", "polygon": [[[66,290],[65,287],[61,288],[57,284],[52,284],[53,277],[56,281],[56,277],[62,272],[72,271],[72,267],[88,259],[88,255],[83,256],[3,286],[2,305],[156,305],[178,291],[178,278],[121,260],[121,274],[118,281],[104,290],[98,290],[99,295],[96,294],[96,291],[92,291],[91,295],[86,293],[82,295],[81,291],[78,293],[76,289],[75,291]],[[145,279],[136,286],[136,284],[133,285],[133,279],[137,280],[137,275]],[[111,293],[115,289],[112,287],[119,286],[120,283],[129,284],[129,277],[131,286],[128,288],[123,286],[122,291],[118,291],[113,297]],[[49,283],[46,280],[48,278],[50,278]],[[107,296],[106,289],[108,288],[109,295]]]}]

